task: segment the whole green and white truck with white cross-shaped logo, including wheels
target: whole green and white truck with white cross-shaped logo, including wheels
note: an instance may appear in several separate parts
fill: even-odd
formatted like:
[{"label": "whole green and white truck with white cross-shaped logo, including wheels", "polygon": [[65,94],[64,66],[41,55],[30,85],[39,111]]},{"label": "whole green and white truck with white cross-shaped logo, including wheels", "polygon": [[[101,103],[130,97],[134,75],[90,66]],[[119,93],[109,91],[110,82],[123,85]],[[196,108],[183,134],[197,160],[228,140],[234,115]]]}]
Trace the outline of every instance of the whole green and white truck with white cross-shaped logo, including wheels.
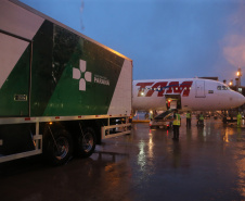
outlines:
[{"label": "whole green and white truck with white cross-shaped logo, including wheels", "polygon": [[16,1],[0,1],[0,163],[60,165],[130,133],[132,61]]}]

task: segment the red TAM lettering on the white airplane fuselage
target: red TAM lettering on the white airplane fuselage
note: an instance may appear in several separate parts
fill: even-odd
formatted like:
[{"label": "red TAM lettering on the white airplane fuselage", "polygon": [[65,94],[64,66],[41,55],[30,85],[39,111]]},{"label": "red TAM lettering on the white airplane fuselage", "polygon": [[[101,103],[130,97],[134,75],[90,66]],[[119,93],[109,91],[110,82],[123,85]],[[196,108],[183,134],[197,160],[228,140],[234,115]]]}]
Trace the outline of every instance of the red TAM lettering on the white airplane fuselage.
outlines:
[{"label": "red TAM lettering on the white airplane fuselage", "polygon": [[189,97],[193,81],[157,81],[157,83],[138,83],[139,86],[138,97],[152,97],[154,92],[157,92],[157,97],[164,97],[164,95],[182,95],[182,97]]}]

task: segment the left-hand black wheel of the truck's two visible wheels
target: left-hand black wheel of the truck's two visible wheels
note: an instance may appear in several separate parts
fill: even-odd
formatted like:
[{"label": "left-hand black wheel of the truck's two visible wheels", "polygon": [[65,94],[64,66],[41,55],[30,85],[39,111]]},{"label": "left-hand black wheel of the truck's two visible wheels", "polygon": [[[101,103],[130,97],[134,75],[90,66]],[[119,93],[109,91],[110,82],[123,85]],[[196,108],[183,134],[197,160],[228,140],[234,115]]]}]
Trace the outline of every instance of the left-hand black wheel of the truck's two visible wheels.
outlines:
[{"label": "left-hand black wheel of the truck's two visible wheels", "polygon": [[57,130],[53,137],[49,136],[43,149],[44,156],[51,164],[63,165],[73,154],[73,138],[66,130]]}]

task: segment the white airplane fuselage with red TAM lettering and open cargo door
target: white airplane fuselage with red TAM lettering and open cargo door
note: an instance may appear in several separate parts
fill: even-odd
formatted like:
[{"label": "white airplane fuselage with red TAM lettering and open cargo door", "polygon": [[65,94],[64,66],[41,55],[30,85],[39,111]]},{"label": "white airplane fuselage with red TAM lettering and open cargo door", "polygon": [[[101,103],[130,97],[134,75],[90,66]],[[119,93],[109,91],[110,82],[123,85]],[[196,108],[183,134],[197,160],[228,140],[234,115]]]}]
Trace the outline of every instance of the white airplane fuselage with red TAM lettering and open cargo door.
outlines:
[{"label": "white airplane fuselage with red TAM lettering and open cargo door", "polygon": [[237,108],[245,97],[225,84],[201,78],[134,80],[133,111],[217,111]]}]

